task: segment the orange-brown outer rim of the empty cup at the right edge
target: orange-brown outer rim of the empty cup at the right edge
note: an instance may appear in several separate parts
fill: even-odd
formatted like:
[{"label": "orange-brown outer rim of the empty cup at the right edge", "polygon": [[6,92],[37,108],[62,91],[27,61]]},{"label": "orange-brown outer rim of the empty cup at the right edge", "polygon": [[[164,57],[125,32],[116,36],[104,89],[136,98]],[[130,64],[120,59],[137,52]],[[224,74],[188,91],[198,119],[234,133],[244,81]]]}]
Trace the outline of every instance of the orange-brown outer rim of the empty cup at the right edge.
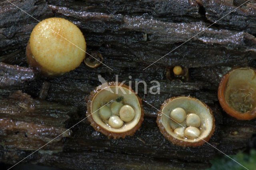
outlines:
[{"label": "orange-brown outer rim of the empty cup at the right edge", "polygon": [[226,102],[226,99],[224,97],[225,89],[226,89],[226,83],[228,83],[228,78],[230,76],[230,73],[237,69],[252,69],[256,73],[256,69],[253,67],[234,67],[228,73],[226,73],[219,84],[218,87],[218,100],[220,102],[220,105],[222,109],[230,116],[235,117],[239,120],[251,120],[256,118],[256,107],[252,109],[251,111],[247,111],[246,113],[240,113],[233,108],[231,108],[228,103]]}]

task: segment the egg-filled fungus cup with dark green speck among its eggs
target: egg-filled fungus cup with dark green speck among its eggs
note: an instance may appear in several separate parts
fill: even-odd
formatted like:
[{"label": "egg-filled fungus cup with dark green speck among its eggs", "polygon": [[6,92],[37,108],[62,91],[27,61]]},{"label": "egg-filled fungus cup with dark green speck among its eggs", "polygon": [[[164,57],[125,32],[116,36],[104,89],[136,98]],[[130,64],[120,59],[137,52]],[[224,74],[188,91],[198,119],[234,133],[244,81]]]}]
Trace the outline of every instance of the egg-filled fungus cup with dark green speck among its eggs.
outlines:
[{"label": "egg-filled fungus cup with dark green speck among its eggs", "polygon": [[144,120],[141,99],[122,83],[104,83],[92,91],[87,100],[88,121],[108,138],[132,136]]}]

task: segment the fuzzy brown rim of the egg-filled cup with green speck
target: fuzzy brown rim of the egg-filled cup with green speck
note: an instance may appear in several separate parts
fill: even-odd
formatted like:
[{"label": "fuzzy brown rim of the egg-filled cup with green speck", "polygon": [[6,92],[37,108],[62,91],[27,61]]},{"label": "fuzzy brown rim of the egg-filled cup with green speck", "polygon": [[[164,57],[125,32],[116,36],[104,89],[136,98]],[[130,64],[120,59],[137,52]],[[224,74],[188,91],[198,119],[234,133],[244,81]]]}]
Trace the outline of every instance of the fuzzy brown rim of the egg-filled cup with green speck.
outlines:
[{"label": "fuzzy brown rim of the egg-filled cup with green speck", "polygon": [[[139,105],[140,105],[140,119],[138,121],[138,123],[130,130],[125,131],[125,132],[121,132],[121,133],[117,133],[117,132],[110,132],[106,129],[104,129],[103,127],[100,127],[100,125],[98,125],[98,123],[96,123],[96,121],[94,121],[93,117],[92,117],[92,113],[91,113],[91,107],[92,107],[92,100],[94,99],[94,96],[96,96],[97,93],[99,93],[102,89],[94,89],[94,91],[92,91],[90,93],[90,95],[87,97],[87,111],[86,111],[86,116],[88,117],[88,121],[91,123],[90,125],[98,132],[101,132],[102,134],[105,134],[106,136],[108,136],[108,138],[125,138],[125,136],[130,135],[133,136],[133,134],[136,132],[136,130],[138,130],[141,125],[142,122],[144,120],[144,110],[142,108],[142,99],[140,99],[140,97],[138,97],[138,95],[132,90],[131,87],[129,87],[128,85],[119,83],[119,82],[107,82],[108,86],[112,87],[112,86],[119,86],[119,87],[123,87],[126,88],[130,91],[132,91],[132,93],[134,93],[134,95],[138,98],[139,101]],[[93,113],[94,114],[94,113]]]}]

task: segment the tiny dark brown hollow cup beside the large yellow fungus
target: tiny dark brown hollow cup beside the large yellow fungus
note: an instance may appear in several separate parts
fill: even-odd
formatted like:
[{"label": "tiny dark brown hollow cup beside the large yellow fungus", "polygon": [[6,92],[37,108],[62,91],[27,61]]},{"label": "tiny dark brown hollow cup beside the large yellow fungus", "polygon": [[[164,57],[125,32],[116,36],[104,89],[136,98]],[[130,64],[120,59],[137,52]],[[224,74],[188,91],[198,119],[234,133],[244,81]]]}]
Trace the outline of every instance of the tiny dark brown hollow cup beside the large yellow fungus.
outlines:
[{"label": "tiny dark brown hollow cup beside the large yellow fungus", "polygon": [[103,57],[98,51],[89,51],[84,63],[91,68],[98,67],[103,62]]}]

